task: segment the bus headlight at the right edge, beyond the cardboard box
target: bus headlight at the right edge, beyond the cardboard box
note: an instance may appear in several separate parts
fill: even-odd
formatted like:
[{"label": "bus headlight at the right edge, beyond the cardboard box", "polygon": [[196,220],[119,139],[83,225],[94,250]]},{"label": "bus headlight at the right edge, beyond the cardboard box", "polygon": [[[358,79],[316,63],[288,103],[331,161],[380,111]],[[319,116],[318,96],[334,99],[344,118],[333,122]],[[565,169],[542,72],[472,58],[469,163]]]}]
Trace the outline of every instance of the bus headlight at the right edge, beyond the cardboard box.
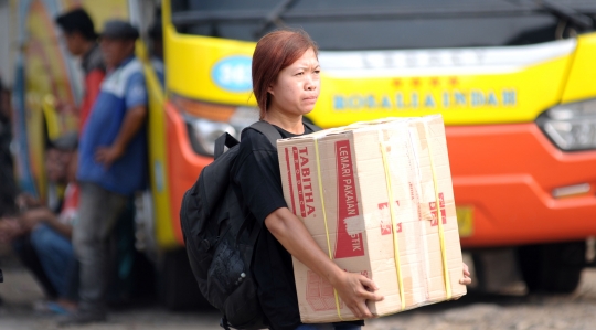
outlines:
[{"label": "bus headlight at the right edge, beyond the cardboard box", "polygon": [[562,150],[596,149],[596,99],[555,106],[538,124]]}]

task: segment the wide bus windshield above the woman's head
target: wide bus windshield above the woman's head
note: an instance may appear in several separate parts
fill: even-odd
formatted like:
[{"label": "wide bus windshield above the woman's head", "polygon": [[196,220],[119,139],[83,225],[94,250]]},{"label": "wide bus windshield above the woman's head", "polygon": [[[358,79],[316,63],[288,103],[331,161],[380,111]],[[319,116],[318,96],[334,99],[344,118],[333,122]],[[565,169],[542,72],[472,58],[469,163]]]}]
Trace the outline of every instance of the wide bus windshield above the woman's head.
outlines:
[{"label": "wide bus windshield above the woman's head", "polygon": [[596,1],[561,0],[554,9],[543,2],[173,0],[172,22],[180,33],[244,41],[257,41],[278,26],[301,28],[321,50],[525,45],[593,28],[573,23],[582,23],[574,21],[579,18],[590,24],[596,18]]}]

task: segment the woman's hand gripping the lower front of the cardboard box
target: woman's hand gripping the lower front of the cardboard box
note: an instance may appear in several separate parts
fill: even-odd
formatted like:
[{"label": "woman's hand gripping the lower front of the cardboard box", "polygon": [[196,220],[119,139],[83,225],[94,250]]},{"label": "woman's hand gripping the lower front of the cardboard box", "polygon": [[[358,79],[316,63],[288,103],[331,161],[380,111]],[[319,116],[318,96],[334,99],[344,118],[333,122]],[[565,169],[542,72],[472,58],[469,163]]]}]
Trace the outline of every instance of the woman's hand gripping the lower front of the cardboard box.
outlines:
[{"label": "woman's hand gripping the lower front of the cardboard box", "polygon": [[381,301],[384,299],[383,296],[374,294],[374,291],[379,290],[374,281],[360,274],[343,273],[343,276],[333,280],[331,285],[336,288],[345,306],[359,319],[374,317],[366,306],[366,300]]}]

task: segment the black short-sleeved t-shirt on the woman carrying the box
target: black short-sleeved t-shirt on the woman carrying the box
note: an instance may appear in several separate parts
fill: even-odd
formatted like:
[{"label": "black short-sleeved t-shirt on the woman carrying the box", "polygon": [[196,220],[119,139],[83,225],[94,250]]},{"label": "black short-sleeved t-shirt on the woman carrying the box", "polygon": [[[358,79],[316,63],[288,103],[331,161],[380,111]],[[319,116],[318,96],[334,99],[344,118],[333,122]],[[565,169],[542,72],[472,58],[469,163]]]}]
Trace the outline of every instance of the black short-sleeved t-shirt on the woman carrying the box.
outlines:
[{"label": "black short-sleeved t-shirt on the woman carrying the box", "polygon": [[[274,127],[283,138],[297,136]],[[305,126],[305,134],[310,132],[312,131]],[[265,219],[272,212],[287,207],[277,148],[260,132],[246,129],[242,135],[233,175],[234,182],[240,187],[243,207],[247,207],[251,213],[246,221],[256,220],[262,227],[253,262],[260,307],[272,329],[294,330],[301,323],[291,255],[265,226]]]}]

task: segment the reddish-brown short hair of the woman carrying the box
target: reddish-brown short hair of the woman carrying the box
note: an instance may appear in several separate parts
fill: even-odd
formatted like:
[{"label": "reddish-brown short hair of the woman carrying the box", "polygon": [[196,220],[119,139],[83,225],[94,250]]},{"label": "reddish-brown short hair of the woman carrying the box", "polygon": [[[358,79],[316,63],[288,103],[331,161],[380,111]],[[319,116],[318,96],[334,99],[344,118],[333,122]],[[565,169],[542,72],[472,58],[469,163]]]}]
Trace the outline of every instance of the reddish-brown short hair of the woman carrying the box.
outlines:
[{"label": "reddish-brown short hair of the woman carrying the box", "polygon": [[279,72],[302,56],[309,49],[318,55],[317,44],[304,30],[278,30],[263,36],[253,54],[253,93],[263,119],[269,106],[268,87]]}]

